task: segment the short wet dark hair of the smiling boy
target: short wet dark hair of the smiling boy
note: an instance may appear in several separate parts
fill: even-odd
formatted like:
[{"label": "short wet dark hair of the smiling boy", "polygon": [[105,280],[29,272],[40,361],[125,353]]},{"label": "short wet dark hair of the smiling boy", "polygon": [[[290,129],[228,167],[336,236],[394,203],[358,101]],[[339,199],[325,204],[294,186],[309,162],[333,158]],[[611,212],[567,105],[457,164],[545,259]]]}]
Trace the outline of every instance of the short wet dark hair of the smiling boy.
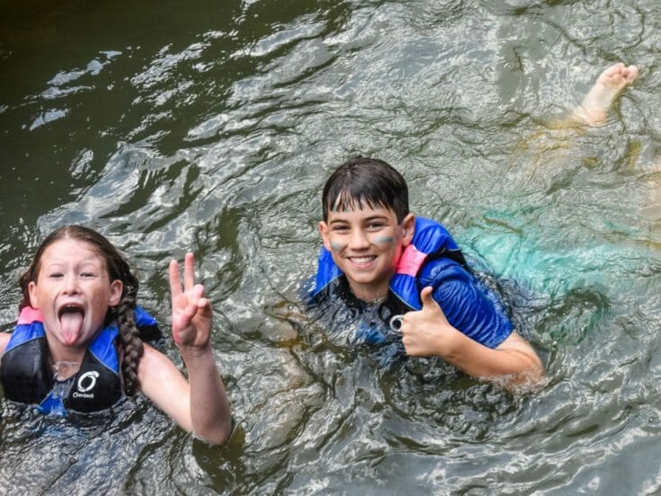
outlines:
[{"label": "short wet dark hair of the smiling boy", "polygon": [[358,157],[341,164],[323,187],[323,220],[329,212],[390,208],[397,222],[409,214],[409,188],[392,165],[378,158]]}]

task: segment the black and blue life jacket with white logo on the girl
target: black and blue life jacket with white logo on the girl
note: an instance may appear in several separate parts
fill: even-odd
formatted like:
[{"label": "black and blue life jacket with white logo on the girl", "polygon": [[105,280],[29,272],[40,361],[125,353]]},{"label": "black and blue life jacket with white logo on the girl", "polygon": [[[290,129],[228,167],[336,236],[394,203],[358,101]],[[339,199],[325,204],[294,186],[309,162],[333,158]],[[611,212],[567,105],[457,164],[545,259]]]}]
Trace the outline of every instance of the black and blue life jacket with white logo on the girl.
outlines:
[{"label": "black and blue life jacket with white logo on the girl", "polygon": [[[135,309],[138,329],[154,335],[154,318]],[[124,397],[119,371],[116,324],[94,337],[74,376],[58,381],[49,364],[49,350],[42,317],[31,307],[22,309],[12,337],[0,359],[4,396],[18,403],[37,404],[42,413],[100,412]]]}]

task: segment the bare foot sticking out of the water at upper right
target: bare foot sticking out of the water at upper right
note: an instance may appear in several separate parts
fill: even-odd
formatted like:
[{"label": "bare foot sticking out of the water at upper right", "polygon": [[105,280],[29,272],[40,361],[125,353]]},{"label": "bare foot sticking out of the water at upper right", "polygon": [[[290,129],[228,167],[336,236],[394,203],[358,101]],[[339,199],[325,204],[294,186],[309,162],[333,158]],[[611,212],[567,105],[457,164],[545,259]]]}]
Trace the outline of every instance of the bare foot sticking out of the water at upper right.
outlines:
[{"label": "bare foot sticking out of the water at upper right", "polygon": [[637,66],[619,63],[608,67],[597,77],[595,85],[574,111],[574,119],[588,126],[603,126],[606,123],[606,113],[615,99],[636,81],[638,74]]}]

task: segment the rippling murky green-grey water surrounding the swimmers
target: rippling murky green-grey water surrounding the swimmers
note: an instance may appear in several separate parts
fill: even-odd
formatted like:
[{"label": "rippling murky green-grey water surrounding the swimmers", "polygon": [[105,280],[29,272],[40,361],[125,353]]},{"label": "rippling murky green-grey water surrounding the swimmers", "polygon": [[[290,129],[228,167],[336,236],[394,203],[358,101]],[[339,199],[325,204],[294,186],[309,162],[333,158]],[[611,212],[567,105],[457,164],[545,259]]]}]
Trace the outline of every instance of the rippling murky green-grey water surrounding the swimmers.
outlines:
[{"label": "rippling murky green-grey water surrounding the swimmers", "polygon": [[[99,229],[165,323],[198,254],[237,427],[207,447],[138,399],[110,417],[3,403],[0,492],[661,492],[656,0],[0,5],[0,286],[43,235]],[[553,129],[615,62],[604,128]],[[356,155],[410,182],[500,281],[548,380],[380,368],[304,315],[321,188]],[[172,359],[181,364],[172,341]]]}]

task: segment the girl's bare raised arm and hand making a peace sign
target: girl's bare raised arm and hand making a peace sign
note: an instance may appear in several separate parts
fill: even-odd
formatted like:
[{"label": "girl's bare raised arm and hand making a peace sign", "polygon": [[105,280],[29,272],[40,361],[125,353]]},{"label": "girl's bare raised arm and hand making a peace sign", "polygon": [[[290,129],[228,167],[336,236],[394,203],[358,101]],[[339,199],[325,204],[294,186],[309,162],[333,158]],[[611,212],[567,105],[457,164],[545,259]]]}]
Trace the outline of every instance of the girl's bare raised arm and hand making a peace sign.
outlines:
[{"label": "girl's bare raised arm and hand making a peace sign", "polygon": [[170,262],[172,338],[186,363],[189,380],[170,359],[150,346],[140,360],[138,375],[143,393],[198,438],[222,444],[229,437],[232,418],[223,380],[211,347],[211,303],[195,284],[195,259],[186,253],[183,288],[179,263]]}]

